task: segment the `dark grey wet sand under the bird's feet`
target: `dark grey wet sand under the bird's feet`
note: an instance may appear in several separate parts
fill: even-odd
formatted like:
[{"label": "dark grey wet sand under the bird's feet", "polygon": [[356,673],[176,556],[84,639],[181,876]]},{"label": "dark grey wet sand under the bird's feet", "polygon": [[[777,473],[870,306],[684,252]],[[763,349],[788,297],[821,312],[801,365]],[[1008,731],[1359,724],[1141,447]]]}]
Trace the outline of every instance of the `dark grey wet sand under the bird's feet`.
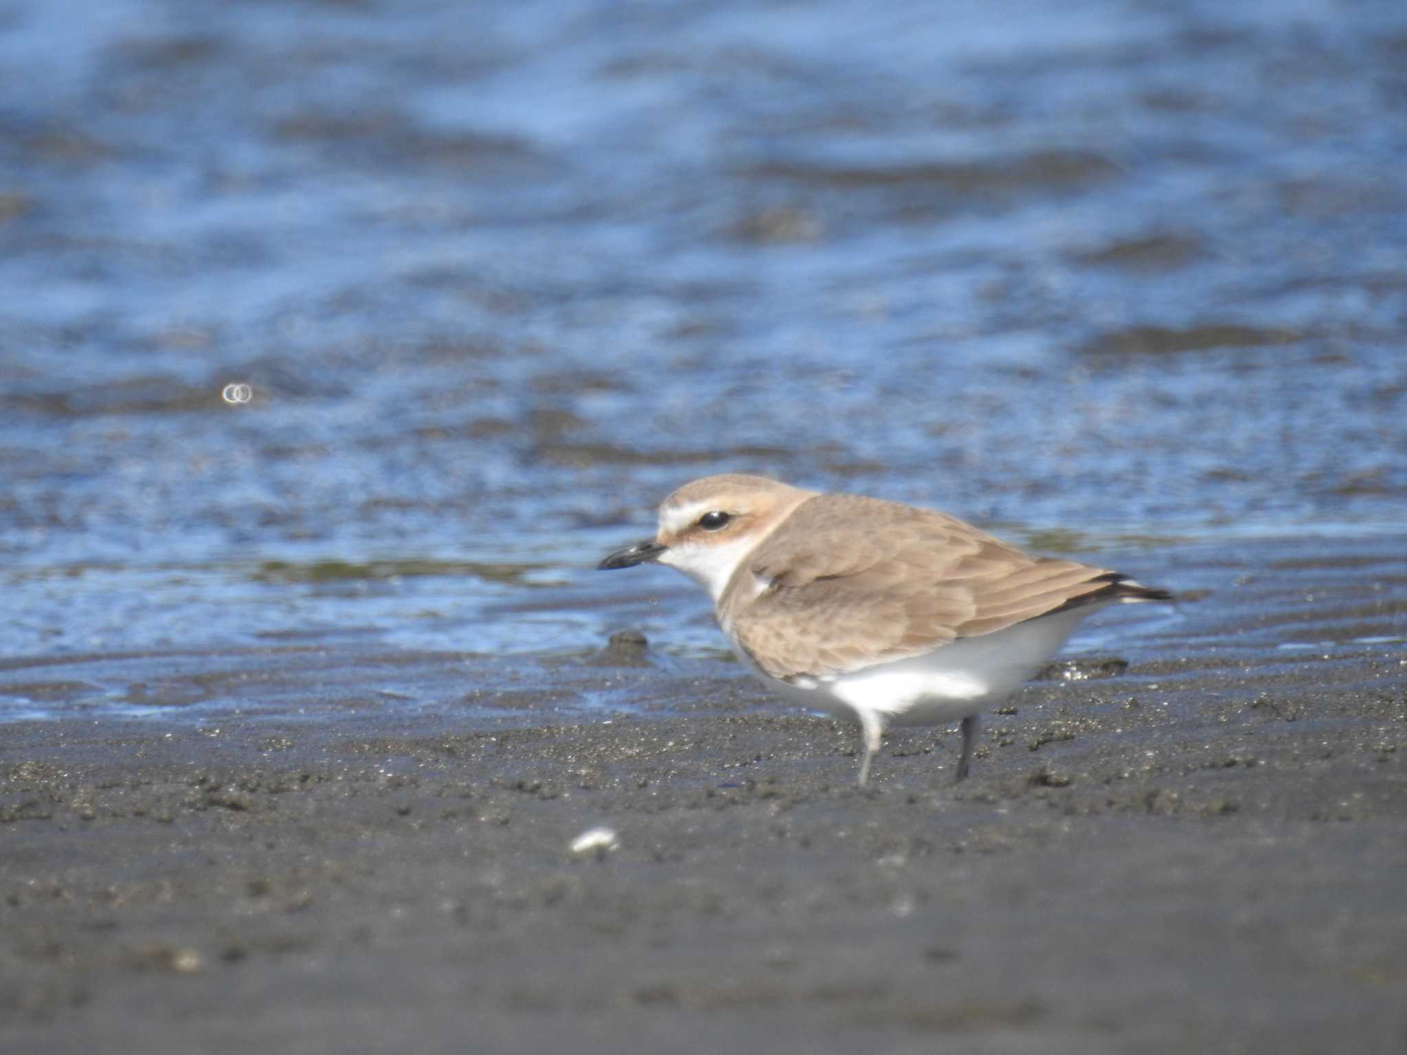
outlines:
[{"label": "dark grey wet sand under the bird's feet", "polygon": [[435,708],[11,724],[0,1048],[1399,1051],[1404,554],[1142,554],[1190,599],[1097,616],[1131,647],[986,716],[958,788],[951,730],[860,791],[853,729],[630,643]]}]

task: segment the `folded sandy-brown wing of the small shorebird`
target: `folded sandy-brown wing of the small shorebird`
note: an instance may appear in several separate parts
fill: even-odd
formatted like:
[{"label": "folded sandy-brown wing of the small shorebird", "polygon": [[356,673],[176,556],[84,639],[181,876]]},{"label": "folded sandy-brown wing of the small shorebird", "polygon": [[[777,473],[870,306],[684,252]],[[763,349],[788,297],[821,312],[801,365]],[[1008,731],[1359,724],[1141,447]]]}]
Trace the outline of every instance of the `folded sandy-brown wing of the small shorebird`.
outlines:
[{"label": "folded sandy-brown wing of the small shorebird", "polygon": [[825,678],[1002,630],[1117,578],[1029,557],[944,513],[819,495],[739,570],[720,615],[764,672]]}]

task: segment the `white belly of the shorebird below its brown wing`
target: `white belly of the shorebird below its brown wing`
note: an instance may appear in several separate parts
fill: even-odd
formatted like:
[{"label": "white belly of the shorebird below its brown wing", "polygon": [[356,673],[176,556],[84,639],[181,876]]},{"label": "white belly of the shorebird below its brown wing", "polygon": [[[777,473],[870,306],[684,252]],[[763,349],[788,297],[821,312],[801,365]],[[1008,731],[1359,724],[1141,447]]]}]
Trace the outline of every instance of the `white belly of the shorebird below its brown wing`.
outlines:
[{"label": "white belly of the shorebird below its brown wing", "polygon": [[[789,699],[837,717],[871,713],[884,724],[943,724],[976,715],[1016,692],[1090,610],[1079,608],[1031,619],[981,637],[964,637],[924,656],[829,679],[787,682],[753,670]],[[747,660],[746,654],[743,658]]]}]

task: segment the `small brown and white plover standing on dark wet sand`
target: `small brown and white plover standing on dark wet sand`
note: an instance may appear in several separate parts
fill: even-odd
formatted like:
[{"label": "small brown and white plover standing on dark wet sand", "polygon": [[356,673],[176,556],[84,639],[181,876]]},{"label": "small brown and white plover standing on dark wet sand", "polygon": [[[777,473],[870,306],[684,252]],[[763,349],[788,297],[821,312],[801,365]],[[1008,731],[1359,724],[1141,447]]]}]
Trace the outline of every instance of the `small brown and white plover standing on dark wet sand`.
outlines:
[{"label": "small brown and white plover standing on dark wet sand", "polygon": [[651,539],[602,571],[666,564],[699,582],[765,685],[861,730],[860,786],[889,726],[960,722],[957,781],[979,715],[1029,681],[1085,616],[1172,601],[1117,571],[1034,557],[934,509],[760,475],[684,484]]}]

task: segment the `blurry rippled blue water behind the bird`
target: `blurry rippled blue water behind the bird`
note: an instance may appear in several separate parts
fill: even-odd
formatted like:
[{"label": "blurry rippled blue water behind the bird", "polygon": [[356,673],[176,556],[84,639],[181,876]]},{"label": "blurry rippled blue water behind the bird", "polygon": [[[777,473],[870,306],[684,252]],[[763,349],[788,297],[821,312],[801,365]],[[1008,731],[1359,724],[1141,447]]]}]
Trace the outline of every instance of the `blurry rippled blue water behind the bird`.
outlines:
[{"label": "blurry rippled blue water behind the bird", "polygon": [[705,656],[591,568],[711,471],[1400,530],[1404,111],[1397,0],[0,0],[0,656],[77,671],[0,717]]}]

